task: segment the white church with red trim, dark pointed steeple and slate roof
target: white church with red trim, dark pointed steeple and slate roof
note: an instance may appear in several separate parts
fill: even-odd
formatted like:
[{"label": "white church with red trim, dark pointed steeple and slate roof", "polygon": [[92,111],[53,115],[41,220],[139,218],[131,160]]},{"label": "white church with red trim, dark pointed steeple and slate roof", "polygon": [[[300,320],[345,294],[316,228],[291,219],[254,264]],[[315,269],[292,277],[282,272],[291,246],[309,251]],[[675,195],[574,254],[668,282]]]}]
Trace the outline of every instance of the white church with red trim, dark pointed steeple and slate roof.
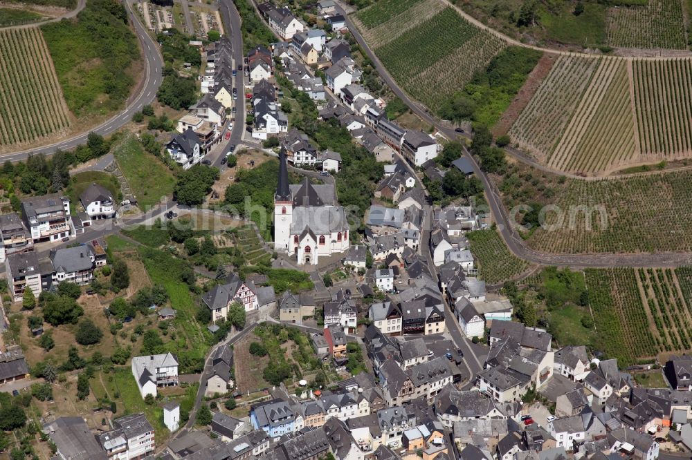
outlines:
[{"label": "white church with red trim, dark pointed steeple and slate roof", "polygon": [[279,183],[274,194],[274,249],[294,255],[299,265],[317,265],[320,257],[349,248],[346,212],[331,184],[289,184],[286,151],[279,153]]}]

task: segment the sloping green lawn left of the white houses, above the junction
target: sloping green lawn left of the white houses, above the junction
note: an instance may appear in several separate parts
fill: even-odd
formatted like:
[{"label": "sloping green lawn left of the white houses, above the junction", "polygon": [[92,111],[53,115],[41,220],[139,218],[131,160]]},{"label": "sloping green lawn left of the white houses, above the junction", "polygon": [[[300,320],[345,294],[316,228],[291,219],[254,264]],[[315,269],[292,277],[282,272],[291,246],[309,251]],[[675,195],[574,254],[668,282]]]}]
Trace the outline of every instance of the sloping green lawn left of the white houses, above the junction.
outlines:
[{"label": "sloping green lawn left of the white houses, above the junction", "polygon": [[158,158],[147,153],[136,137],[123,140],[113,149],[113,155],[141,209],[149,209],[173,193],[176,184],[173,174]]}]

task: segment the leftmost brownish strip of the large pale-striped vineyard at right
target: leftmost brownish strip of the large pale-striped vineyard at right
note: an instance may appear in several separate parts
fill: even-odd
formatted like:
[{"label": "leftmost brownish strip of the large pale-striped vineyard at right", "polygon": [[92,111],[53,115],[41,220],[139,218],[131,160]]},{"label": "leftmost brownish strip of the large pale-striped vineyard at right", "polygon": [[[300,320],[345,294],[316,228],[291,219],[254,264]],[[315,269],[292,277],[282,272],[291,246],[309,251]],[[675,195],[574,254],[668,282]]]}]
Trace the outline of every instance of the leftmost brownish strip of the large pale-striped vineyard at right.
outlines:
[{"label": "leftmost brownish strip of the large pale-striped vineyard at right", "polygon": [[558,58],[509,130],[520,148],[547,161],[597,70],[597,59]]}]

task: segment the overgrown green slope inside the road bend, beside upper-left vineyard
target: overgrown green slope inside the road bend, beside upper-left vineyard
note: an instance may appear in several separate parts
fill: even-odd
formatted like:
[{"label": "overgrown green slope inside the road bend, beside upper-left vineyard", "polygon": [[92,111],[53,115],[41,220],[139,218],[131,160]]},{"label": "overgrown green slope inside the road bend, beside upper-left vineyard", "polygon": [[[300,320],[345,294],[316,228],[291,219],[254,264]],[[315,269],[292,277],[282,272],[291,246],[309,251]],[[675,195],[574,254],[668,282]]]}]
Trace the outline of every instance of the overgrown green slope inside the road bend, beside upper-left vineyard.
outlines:
[{"label": "overgrown green slope inside the road bend, beside upper-left vineyard", "polygon": [[140,59],[125,7],[113,0],[86,2],[74,21],[42,26],[67,106],[78,117],[121,108],[134,86]]}]

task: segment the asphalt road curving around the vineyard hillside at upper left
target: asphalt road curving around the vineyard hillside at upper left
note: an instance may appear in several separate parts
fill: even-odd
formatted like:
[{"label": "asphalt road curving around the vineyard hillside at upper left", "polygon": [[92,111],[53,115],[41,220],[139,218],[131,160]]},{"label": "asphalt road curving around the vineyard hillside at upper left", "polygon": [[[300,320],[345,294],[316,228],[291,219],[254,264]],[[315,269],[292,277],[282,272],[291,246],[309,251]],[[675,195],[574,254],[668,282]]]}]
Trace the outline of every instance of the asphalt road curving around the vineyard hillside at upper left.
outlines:
[{"label": "asphalt road curving around the vineyard hillside at upper left", "polygon": [[[140,111],[146,104],[151,104],[156,97],[156,92],[158,91],[158,87],[161,86],[161,81],[163,79],[161,75],[163,70],[163,57],[161,57],[161,52],[158,50],[158,44],[149,36],[147,29],[140,23],[136,15],[134,15],[129,1],[125,2],[125,8],[127,8],[127,15],[134,25],[135,32],[144,52],[145,79],[140,92],[130,98],[131,100],[128,102],[127,108],[125,108],[124,111],[91,130],[100,135],[109,135],[113,133],[113,131],[117,131],[120,126],[129,122],[135,112]],[[44,153],[45,155],[50,155],[55,153],[58,149],[70,150],[79,144],[84,144],[88,135],[89,133],[82,133],[70,139],[56,142],[55,144],[0,155],[0,161],[5,162],[6,160],[10,160],[12,162],[17,162],[26,160],[29,153]]]}]

